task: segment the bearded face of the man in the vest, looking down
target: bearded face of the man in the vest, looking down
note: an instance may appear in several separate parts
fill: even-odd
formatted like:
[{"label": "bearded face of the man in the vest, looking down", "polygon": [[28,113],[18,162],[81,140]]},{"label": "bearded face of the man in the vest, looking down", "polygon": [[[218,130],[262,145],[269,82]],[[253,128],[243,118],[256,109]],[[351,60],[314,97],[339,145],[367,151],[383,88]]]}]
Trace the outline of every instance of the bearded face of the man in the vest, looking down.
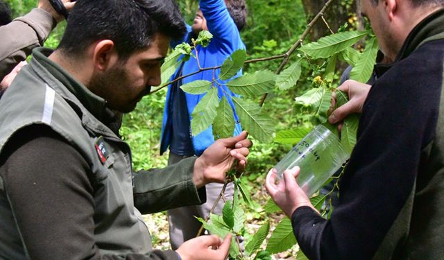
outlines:
[{"label": "bearded face of the man in the vest, looking down", "polygon": [[93,76],[89,89],[108,101],[108,107],[131,112],[151,86],[160,85],[160,67],[167,55],[170,38],[157,33],[146,49],[135,51],[128,60],[116,62],[103,73]]}]

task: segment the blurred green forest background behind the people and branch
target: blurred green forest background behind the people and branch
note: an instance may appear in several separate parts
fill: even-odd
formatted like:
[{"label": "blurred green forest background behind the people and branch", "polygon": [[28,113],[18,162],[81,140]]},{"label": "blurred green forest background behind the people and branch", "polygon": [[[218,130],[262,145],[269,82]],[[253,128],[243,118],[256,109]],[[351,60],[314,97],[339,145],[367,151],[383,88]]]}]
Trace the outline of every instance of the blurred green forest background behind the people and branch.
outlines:
[{"label": "blurred green forest background behind the people and branch", "polygon": [[[10,3],[13,17],[19,17],[37,6],[36,0],[6,0]],[[282,55],[289,51],[290,47],[298,41],[300,35],[307,28],[307,24],[323,8],[326,0],[246,0],[248,5],[248,25],[241,32],[241,37],[246,44],[248,60],[255,58]],[[194,14],[198,9],[196,0],[178,1],[185,20],[192,24]],[[305,42],[318,40],[320,37],[336,33],[338,30],[354,31],[364,28],[359,16],[359,4],[353,0],[336,0],[332,2],[327,12],[309,31]],[[65,31],[65,21],[51,33],[45,46],[56,48]],[[360,43],[362,44],[362,43]],[[359,44],[357,49],[362,49]],[[291,57],[296,60],[296,55]],[[269,60],[265,62],[248,63],[244,67],[244,73],[253,73],[261,69],[276,71],[281,60]],[[302,65],[302,74],[295,87],[286,90],[275,88],[268,94],[264,104],[264,111],[273,119],[276,119],[276,132],[311,126],[309,116],[302,113],[295,106],[296,96],[300,96],[314,84],[314,78],[322,71],[325,64],[312,62]],[[336,64],[334,84],[337,85],[340,71],[346,64]],[[133,151],[133,168],[137,171],[142,168],[154,168],[167,165],[168,155],[160,155],[160,131],[162,126],[162,111],[165,103],[166,88],[160,92],[151,94],[142,99],[134,112],[126,114],[123,119],[121,135],[130,144]],[[257,98],[259,103],[259,98]],[[254,141],[254,140],[253,140]],[[251,236],[257,229],[270,219],[275,223],[282,218],[282,214],[266,214],[263,210],[269,196],[264,189],[264,178],[268,170],[273,167],[288,150],[291,145],[277,143],[261,144],[254,141],[251,149],[249,164],[244,173],[245,187],[253,198],[254,207],[244,207],[246,216],[246,236]],[[268,216],[267,216],[268,215]],[[168,225],[165,213],[146,216],[146,223],[150,227],[155,248],[169,248]],[[273,223],[271,223],[273,229]],[[298,250],[297,245],[291,250],[276,254],[274,259],[293,259]]]}]

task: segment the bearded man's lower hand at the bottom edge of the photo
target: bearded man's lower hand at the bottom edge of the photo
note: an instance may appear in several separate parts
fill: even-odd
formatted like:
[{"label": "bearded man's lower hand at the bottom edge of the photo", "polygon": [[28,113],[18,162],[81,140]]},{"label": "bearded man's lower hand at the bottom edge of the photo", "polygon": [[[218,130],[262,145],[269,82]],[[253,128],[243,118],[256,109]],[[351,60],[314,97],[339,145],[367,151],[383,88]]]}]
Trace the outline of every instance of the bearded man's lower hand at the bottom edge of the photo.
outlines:
[{"label": "bearded man's lower hand at the bottom edge of the photo", "polygon": [[224,260],[227,259],[230,249],[231,234],[225,236],[223,242],[219,236],[198,236],[178,248],[176,252],[182,260]]}]

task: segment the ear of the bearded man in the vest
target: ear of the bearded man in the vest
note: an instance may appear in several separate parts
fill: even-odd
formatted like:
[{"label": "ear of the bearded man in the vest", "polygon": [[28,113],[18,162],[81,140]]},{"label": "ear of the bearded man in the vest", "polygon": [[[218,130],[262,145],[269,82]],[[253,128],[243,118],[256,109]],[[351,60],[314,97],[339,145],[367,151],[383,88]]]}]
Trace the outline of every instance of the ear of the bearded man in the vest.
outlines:
[{"label": "ear of the bearded man in the vest", "polygon": [[104,71],[117,61],[118,55],[112,40],[100,40],[93,49],[93,63],[96,69]]}]

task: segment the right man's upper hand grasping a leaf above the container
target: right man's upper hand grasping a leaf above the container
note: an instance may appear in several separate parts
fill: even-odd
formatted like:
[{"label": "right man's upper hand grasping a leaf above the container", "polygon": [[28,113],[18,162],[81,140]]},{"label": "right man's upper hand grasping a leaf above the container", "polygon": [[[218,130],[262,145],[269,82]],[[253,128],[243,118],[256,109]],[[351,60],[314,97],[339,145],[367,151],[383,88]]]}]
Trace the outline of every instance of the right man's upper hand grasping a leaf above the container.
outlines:
[{"label": "right man's upper hand grasping a leaf above the container", "polygon": [[338,87],[339,90],[348,93],[349,101],[341,107],[336,108],[328,117],[328,121],[332,124],[343,121],[346,116],[352,113],[362,112],[364,101],[370,91],[370,85],[359,83],[355,80],[345,80],[345,82]]}]

